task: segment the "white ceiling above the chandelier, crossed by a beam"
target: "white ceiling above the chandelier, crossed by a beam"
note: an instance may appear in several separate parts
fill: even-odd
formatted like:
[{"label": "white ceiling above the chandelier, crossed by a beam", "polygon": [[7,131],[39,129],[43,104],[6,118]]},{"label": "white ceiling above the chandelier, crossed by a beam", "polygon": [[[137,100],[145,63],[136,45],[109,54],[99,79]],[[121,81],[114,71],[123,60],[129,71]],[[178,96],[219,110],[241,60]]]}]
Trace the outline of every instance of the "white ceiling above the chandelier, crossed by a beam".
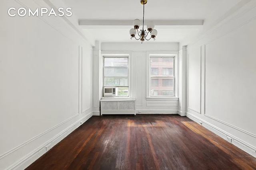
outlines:
[{"label": "white ceiling above the chandelier, crossed by a beam", "polygon": [[[143,6],[140,0],[63,0],[72,8],[73,14],[79,21],[106,21],[110,24],[81,25],[86,32],[101,42],[131,42],[129,30],[132,20],[142,21]],[[207,20],[210,16],[218,15],[218,9],[227,8],[241,0],[148,0],[145,5],[145,20]],[[118,24],[116,21],[130,21]],[[112,24],[113,23],[113,24]],[[167,25],[167,26],[166,26]],[[158,30],[154,42],[180,42],[190,35],[196,35],[203,24],[156,25]]]}]

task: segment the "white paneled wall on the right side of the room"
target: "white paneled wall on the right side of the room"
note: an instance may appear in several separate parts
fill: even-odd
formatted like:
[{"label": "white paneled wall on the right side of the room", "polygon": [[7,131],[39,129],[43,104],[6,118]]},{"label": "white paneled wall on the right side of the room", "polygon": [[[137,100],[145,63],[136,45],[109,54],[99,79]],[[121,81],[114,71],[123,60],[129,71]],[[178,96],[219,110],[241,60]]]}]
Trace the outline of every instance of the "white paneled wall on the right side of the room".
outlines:
[{"label": "white paneled wall on the right side of the room", "polygon": [[251,1],[187,47],[187,116],[224,139],[231,137],[234,145],[253,156],[255,30],[256,2]]}]

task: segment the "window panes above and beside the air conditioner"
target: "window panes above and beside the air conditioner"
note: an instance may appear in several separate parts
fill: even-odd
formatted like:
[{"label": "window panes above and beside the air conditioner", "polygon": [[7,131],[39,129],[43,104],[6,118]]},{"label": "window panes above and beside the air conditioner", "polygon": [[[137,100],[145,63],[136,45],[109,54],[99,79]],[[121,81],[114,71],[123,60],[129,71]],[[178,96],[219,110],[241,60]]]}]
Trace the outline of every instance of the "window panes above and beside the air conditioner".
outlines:
[{"label": "window panes above and beside the air conditioner", "polygon": [[116,96],[129,96],[128,57],[103,57],[104,87],[116,87]]}]

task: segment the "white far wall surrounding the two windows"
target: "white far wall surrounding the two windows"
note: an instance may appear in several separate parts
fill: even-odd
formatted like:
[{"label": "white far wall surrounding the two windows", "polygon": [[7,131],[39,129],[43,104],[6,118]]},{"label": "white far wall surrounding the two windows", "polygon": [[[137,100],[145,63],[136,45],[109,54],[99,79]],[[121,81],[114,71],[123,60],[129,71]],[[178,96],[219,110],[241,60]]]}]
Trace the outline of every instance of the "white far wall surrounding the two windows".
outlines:
[{"label": "white far wall surrounding the two windows", "polygon": [[[178,43],[152,43],[144,42],[141,44],[139,41],[134,43],[102,43],[101,44],[101,55],[106,54],[128,54],[130,55],[130,96],[136,99],[136,113],[137,114],[150,114],[150,113],[178,113],[178,98],[174,99],[147,99],[147,58],[148,53],[166,53],[166,51],[172,51],[178,53],[179,44]],[[100,55],[100,56],[101,56]],[[102,69],[99,61],[102,60],[102,57],[99,58],[99,53],[96,53],[94,56],[94,64],[98,65],[99,77],[102,78]],[[178,56],[177,60],[178,62]],[[178,65],[178,64],[177,64]],[[96,69],[96,68],[94,68]],[[96,69],[97,70],[97,69]],[[178,70],[178,68],[177,68]],[[94,75],[98,77],[98,75]],[[178,78],[177,78],[178,81]],[[99,85],[100,84],[100,85]],[[96,80],[95,86],[99,86],[100,92],[102,91],[102,82],[101,80]],[[94,86],[94,87],[95,87]],[[95,96],[95,113],[96,109],[99,110],[99,98],[102,96],[101,93],[94,92]]]}]

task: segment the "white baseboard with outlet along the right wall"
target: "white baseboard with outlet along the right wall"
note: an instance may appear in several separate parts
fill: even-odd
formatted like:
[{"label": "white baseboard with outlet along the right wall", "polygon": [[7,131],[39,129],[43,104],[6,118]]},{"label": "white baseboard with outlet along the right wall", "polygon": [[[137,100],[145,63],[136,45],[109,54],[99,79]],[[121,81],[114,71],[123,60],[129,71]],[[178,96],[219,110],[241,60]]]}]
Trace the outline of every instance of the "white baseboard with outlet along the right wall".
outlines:
[{"label": "white baseboard with outlet along the right wall", "polygon": [[235,145],[236,147],[244,150],[245,152],[247,152],[248,154],[256,157],[256,147],[252,146],[248,143],[246,143],[245,141],[242,141],[240,139],[238,139],[237,137],[235,137],[234,135],[208,123],[207,121],[204,121],[202,119],[200,119],[199,117],[192,115],[191,113],[186,112],[186,116],[190,119],[192,119],[193,121],[197,122],[198,124],[202,125],[203,127],[205,127],[206,129],[212,131],[213,133],[215,133],[216,135],[220,136],[221,138],[227,140],[227,136],[232,138],[232,144]]}]

